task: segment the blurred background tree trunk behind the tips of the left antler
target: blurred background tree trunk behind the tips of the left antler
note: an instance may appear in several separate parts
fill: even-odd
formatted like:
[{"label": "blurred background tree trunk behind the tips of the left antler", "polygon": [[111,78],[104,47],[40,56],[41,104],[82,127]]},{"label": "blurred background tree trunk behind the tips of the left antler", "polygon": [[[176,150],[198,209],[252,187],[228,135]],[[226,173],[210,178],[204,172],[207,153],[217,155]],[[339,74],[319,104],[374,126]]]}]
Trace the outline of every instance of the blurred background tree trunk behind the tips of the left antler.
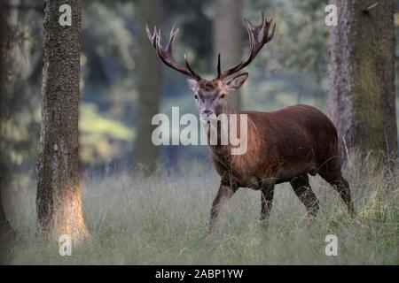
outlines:
[{"label": "blurred background tree trunk behind the tips of the left antler", "polygon": [[[153,52],[145,32],[145,25],[160,27],[162,1],[140,0],[138,15],[140,18],[138,32],[137,80],[137,138],[135,144],[136,163],[143,166],[146,172],[152,172],[156,167],[159,148],[153,144],[153,116],[160,108],[161,69],[160,61]],[[168,35],[168,34],[167,34]]]}]

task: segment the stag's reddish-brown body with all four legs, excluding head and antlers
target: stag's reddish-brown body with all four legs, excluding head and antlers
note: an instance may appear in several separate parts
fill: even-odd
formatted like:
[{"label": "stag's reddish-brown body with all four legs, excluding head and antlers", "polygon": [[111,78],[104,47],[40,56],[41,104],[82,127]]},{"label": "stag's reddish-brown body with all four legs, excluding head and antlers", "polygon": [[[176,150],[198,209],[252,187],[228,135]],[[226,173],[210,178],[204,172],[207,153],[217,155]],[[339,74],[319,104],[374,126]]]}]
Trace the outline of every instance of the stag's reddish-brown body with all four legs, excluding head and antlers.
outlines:
[{"label": "stag's reddish-brown body with all four legs, excluding head and antlers", "polygon": [[[227,112],[235,113],[231,108]],[[230,146],[210,146],[211,159],[221,176],[211,210],[210,232],[226,199],[239,187],[262,191],[261,218],[265,223],[270,215],[274,185],[283,182],[291,183],[308,217],[316,217],[318,201],[309,186],[308,174],[318,173],[329,182],[340,193],[349,212],[354,213],[348,182],[340,172],[337,131],[324,113],[308,105],[295,105],[280,111],[239,114],[248,117],[246,153],[231,156]]]}]

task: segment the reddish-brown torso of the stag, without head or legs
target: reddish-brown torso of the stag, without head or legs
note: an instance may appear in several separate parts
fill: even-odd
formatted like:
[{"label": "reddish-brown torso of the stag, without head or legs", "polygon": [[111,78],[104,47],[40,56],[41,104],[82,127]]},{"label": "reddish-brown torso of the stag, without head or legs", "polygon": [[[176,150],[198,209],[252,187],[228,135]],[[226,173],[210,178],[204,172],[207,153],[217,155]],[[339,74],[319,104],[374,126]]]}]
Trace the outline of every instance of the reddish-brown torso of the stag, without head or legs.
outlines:
[{"label": "reddish-brown torso of the stag, without head or legs", "polygon": [[248,149],[232,156],[229,146],[210,146],[223,184],[261,189],[317,170],[338,157],[335,127],[325,114],[307,105],[274,112],[243,111],[248,117]]}]

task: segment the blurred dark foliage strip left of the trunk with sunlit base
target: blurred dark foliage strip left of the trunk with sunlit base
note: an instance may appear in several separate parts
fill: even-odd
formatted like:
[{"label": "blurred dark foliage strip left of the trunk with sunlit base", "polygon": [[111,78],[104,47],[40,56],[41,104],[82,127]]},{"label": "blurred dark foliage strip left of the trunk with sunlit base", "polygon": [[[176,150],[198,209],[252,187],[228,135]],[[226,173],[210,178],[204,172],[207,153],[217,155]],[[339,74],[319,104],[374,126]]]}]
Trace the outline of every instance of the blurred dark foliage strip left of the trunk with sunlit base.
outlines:
[{"label": "blurred dark foliage strip left of the trunk with sunlit base", "polygon": [[2,50],[6,71],[0,110],[4,139],[0,148],[10,167],[35,162],[41,109],[38,79],[41,69],[37,65],[42,65],[43,53],[40,40],[37,41],[42,33],[40,17],[34,10],[14,11],[9,22],[9,41]]}]

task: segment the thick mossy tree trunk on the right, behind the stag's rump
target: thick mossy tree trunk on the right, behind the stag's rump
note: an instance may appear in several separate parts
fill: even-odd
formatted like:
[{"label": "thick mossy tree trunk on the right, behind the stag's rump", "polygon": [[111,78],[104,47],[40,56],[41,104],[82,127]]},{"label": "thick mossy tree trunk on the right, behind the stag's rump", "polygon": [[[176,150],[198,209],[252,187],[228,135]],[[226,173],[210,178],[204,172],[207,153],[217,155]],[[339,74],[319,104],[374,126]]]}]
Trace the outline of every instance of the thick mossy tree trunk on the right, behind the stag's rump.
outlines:
[{"label": "thick mossy tree trunk on the right, behind the stag's rump", "polygon": [[[335,0],[338,27],[331,27],[328,109],[340,149],[371,150],[397,158],[393,1]],[[342,140],[345,140],[345,143]]]}]

